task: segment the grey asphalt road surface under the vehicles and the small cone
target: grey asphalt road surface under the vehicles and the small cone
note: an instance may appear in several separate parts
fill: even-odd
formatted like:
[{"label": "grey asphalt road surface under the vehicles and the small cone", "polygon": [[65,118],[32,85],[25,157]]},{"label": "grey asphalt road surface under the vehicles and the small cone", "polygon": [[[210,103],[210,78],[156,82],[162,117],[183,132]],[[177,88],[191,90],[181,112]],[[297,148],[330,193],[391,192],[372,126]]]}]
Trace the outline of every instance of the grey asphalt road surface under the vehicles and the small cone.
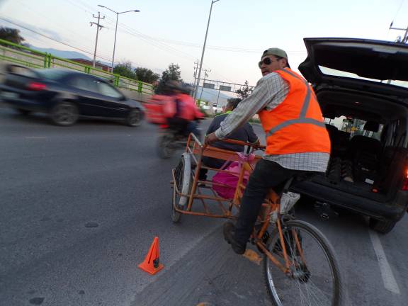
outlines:
[{"label": "grey asphalt road surface under the vehicles and the small cone", "polygon": [[[60,128],[0,108],[0,305],[271,305],[222,220],[171,222],[177,157],[158,159],[156,136],[147,123]],[[346,305],[408,304],[407,217],[381,236],[348,212],[297,214],[334,245]],[[156,236],[164,269],[150,276],[137,265]]]}]

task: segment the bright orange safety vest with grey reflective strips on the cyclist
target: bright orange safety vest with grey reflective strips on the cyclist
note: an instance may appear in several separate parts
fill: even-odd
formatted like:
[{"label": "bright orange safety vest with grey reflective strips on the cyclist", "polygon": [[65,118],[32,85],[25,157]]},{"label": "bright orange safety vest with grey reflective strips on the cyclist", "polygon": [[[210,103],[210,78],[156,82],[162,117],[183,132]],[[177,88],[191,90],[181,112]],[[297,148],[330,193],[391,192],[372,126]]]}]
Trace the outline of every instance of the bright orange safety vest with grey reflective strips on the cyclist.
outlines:
[{"label": "bright orange safety vest with grey reflective strips on the cyclist", "polygon": [[289,84],[288,96],[271,111],[259,111],[266,133],[266,154],[330,154],[329,133],[312,87],[293,70],[277,70]]}]

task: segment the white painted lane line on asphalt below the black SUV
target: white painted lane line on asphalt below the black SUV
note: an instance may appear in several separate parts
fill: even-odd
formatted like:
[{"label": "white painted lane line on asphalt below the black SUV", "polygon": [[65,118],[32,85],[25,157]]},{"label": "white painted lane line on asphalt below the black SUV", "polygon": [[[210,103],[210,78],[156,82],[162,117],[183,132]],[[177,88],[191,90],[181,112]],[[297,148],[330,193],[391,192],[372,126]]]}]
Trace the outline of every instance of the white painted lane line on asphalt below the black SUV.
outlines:
[{"label": "white painted lane line on asphalt below the black SUV", "polygon": [[378,266],[380,266],[382,281],[384,282],[385,289],[399,295],[400,293],[397,281],[395,280],[394,274],[392,274],[390,263],[388,263],[387,256],[385,256],[384,249],[382,249],[382,244],[378,234],[370,230],[370,239],[373,243],[375,255],[378,259]]}]

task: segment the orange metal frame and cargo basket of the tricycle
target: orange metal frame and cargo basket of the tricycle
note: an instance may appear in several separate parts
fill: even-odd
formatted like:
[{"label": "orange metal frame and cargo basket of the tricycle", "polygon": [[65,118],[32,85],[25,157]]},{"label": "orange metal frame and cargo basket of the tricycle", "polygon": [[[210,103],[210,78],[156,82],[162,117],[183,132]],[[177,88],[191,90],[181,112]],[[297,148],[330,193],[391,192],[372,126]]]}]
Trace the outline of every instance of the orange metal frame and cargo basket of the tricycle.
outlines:
[{"label": "orange metal frame and cargo basket of the tricycle", "polygon": [[[256,151],[257,149],[264,149],[263,146],[261,145],[256,145],[256,144],[251,144],[247,142],[240,142],[237,140],[222,140],[227,143],[231,143],[234,145],[244,145],[250,148],[251,151]],[[173,180],[171,181],[172,186],[173,186],[173,209],[175,212],[179,212],[180,214],[183,215],[198,215],[198,216],[204,216],[204,217],[215,217],[215,218],[225,218],[225,219],[237,219],[237,215],[239,212],[239,203],[242,198],[242,194],[244,192],[244,174],[248,173],[250,174],[251,171],[254,169],[254,164],[256,164],[259,159],[261,159],[260,156],[256,156],[254,159],[254,162],[243,162],[242,159],[238,156],[237,152],[231,152],[227,151],[225,149],[219,149],[217,147],[211,147],[208,145],[202,145],[198,138],[191,134],[188,137],[187,144],[186,144],[186,149],[183,154],[188,154],[191,157],[191,165],[185,165],[185,166],[191,166],[191,169],[194,171],[191,171],[191,175],[193,176],[193,181],[192,181],[192,186],[191,186],[191,191],[189,193],[181,193],[179,190],[177,183],[176,183],[176,175],[175,175],[175,170],[172,169],[171,174],[173,177]],[[215,191],[212,190],[212,186],[214,185],[220,185],[224,186],[220,183],[215,183],[212,181],[200,181],[198,179],[198,175],[200,172],[200,169],[208,169],[211,171],[217,171],[217,172],[225,172],[229,174],[233,174],[231,171],[227,171],[225,169],[214,169],[210,168],[208,166],[203,165],[202,163],[202,158],[203,157],[212,157],[216,159],[222,159],[225,161],[229,162],[242,162],[242,167],[239,172],[239,179],[237,183],[237,188],[234,192],[234,198],[231,200],[221,198],[220,196],[217,196]],[[236,174],[235,174],[236,175]],[[202,193],[202,190],[210,190],[212,192],[212,196],[205,195]],[[186,206],[183,208],[179,208],[176,203],[176,196],[179,197],[186,197],[188,198]],[[193,210],[193,203],[194,200],[200,200],[200,202],[203,205],[203,210]],[[215,201],[218,204],[218,208],[220,209],[219,212],[213,212],[209,209],[208,203],[206,203],[206,200],[212,200]],[[194,207],[196,208],[196,207]],[[233,210],[236,210],[236,212],[233,212]],[[271,254],[270,251],[268,251],[266,242],[263,241],[263,234],[266,233],[266,230],[268,229],[270,223],[271,223],[271,215],[275,214],[276,215],[276,231],[279,235],[280,243],[282,245],[282,250],[283,250],[283,260],[279,261],[276,259],[273,254]],[[261,229],[259,229],[258,232],[254,229],[254,232],[252,234],[252,239],[254,244],[258,246],[258,248],[268,256],[268,259],[270,259],[278,268],[280,268],[283,273],[289,273],[290,272],[290,261],[288,258],[288,254],[286,251],[285,247],[285,240],[283,239],[283,232],[282,232],[282,226],[281,226],[281,221],[280,221],[280,197],[278,196],[277,193],[274,191],[270,191],[268,193],[268,197],[265,200],[265,203],[262,205],[262,211],[259,215],[258,219],[258,224],[261,225]],[[259,227],[258,227],[259,228]],[[297,239],[297,234],[293,233],[295,235],[295,242],[297,247],[300,249],[300,254],[302,254],[301,246],[298,242]]]}]

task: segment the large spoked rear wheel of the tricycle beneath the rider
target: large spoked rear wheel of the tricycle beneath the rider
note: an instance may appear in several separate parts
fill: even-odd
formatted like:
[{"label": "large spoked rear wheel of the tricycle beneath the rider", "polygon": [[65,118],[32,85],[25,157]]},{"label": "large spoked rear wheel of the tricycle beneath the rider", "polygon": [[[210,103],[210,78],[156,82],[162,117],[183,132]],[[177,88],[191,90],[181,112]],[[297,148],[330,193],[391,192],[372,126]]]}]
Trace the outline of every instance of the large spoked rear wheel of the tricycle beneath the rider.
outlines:
[{"label": "large spoked rear wheel of the tricycle beneath the rider", "polygon": [[[276,306],[341,305],[339,264],[326,237],[316,227],[300,220],[285,222],[282,231],[290,273],[280,271],[266,255],[263,261],[264,280],[273,303]],[[285,265],[278,229],[267,246]]]}]

